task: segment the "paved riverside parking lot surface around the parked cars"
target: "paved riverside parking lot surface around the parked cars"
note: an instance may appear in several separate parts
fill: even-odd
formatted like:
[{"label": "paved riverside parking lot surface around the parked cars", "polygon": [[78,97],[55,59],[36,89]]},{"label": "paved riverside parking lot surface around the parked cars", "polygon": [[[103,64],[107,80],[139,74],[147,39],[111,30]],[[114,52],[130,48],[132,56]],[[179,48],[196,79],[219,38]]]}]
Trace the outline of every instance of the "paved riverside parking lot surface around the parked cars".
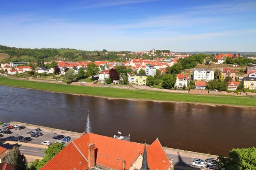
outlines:
[{"label": "paved riverside parking lot surface around the parked cars", "polygon": [[[12,125],[12,124],[10,124],[10,125]],[[5,127],[8,127],[8,126],[5,126]],[[38,127],[35,127],[35,128],[38,128]],[[16,137],[17,134],[18,134],[18,136],[31,137],[31,135],[27,134],[27,132],[32,131],[35,128],[27,127],[26,126],[25,129],[21,129],[21,130],[10,129],[12,131],[12,133],[11,134],[3,134],[3,133],[1,133],[1,134],[3,134],[3,137],[1,137],[0,139],[6,139],[6,140],[10,141],[12,138]],[[0,127],[0,129],[3,129],[3,127]],[[54,131],[44,130],[44,128],[41,128],[41,129],[42,129],[41,133],[43,133],[43,136],[39,136],[37,138],[31,137],[33,140],[29,141],[28,143],[41,144],[44,141],[49,141],[52,144],[54,144],[58,140],[52,139],[53,136],[64,135],[65,137],[66,136],[70,136],[71,137],[69,142],[64,142],[64,146],[66,146],[67,144],[69,144],[74,139],[77,139],[77,136],[73,136],[73,135],[67,134],[65,132],[64,133],[58,133],[58,130],[55,131],[57,134],[54,134]]]}]

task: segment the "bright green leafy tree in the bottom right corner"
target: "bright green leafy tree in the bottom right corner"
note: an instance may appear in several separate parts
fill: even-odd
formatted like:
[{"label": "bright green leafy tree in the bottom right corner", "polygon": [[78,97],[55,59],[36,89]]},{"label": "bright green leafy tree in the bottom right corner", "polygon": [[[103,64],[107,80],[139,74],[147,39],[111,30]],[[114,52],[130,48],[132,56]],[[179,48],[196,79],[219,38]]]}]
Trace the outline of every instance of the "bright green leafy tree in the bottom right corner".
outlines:
[{"label": "bright green leafy tree in the bottom right corner", "polygon": [[233,149],[227,157],[219,156],[218,170],[256,170],[256,148]]}]

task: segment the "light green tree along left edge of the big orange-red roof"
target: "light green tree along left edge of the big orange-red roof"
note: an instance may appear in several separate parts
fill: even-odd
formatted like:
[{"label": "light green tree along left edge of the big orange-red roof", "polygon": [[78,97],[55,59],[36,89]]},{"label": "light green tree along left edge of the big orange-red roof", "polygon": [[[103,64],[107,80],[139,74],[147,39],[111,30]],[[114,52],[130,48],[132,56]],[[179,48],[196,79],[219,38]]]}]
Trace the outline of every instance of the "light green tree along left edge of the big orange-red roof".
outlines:
[{"label": "light green tree along left edge of the big orange-red roof", "polygon": [[50,161],[55,155],[57,155],[64,146],[61,143],[52,144],[52,146],[48,147],[44,150],[44,153],[46,153],[46,156],[39,161],[37,165],[37,170],[40,170],[41,167],[43,167],[48,161]]}]

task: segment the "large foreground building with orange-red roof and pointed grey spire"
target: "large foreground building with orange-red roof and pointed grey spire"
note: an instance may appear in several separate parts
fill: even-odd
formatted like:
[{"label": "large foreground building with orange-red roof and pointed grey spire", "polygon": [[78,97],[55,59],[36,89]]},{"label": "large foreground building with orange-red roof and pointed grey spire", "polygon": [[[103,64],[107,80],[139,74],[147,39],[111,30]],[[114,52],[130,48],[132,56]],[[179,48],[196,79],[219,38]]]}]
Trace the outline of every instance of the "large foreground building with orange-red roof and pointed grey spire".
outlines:
[{"label": "large foreground building with orange-red roof and pointed grey spire", "polygon": [[88,114],[82,136],[41,170],[171,170],[171,166],[158,139],[146,145],[94,134]]}]

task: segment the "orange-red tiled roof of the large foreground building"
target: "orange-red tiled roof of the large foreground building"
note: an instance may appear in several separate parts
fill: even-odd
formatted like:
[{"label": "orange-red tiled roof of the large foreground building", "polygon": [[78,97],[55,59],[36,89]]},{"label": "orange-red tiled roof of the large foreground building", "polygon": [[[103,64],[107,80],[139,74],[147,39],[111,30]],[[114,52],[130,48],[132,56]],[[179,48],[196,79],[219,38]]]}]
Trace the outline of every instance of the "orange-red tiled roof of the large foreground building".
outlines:
[{"label": "orange-red tiled roof of the large foreground building", "polygon": [[[68,144],[41,170],[73,170],[74,168],[86,170],[88,167],[88,144],[90,143],[95,144],[96,165],[113,170],[122,170],[122,160],[125,160],[125,170],[128,170],[144,150],[144,144],[87,133]],[[158,139],[147,146],[147,152],[148,166],[151,170],[166,170],[168,166],[171,166]]]}]

